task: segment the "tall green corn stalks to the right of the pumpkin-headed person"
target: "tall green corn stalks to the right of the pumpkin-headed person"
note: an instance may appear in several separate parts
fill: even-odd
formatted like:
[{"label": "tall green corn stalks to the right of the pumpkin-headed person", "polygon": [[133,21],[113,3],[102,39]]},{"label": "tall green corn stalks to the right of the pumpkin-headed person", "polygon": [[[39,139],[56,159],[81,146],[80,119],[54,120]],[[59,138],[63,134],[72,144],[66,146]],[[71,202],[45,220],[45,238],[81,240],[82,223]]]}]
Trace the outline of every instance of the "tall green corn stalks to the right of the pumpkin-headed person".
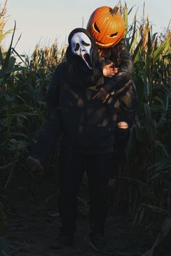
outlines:
[{"label": "tall green corn stalks to the right of the pumpkin-headed person", "polygon": [[128,200],[130,211],[134,211],[135,224],[154,214],[171,213],[171,35],[170,30],[162,39],[152,35],[149,19],[138,23],[135,14],[127,40],[133,57],[139,107],[120,190]]}]

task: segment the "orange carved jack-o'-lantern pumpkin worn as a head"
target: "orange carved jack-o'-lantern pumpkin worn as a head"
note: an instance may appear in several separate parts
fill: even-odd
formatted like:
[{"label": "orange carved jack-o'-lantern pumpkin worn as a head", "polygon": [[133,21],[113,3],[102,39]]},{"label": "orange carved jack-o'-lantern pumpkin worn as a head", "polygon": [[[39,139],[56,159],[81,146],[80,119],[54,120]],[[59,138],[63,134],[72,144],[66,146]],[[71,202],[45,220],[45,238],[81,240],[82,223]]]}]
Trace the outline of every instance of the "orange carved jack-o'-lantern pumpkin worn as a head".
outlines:
[{"label": "orange carved jack-o'-lantern pumpkin worn as a head", "polygon": [[101,48],[119,43],[124,36],[125,23],[120,13],[113,14],[111,7],[99,7],[88,20],[87,29]]}]

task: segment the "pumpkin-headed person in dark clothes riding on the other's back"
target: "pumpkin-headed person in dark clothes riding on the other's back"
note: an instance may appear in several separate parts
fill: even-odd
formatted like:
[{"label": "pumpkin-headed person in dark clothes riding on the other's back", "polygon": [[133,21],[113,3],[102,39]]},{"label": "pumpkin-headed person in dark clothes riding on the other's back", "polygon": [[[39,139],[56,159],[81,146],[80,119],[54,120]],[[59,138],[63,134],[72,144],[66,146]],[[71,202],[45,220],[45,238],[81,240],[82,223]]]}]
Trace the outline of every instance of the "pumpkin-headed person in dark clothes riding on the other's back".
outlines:
[{"label": "pumpkin-headed person in dark clothes riding on the other's back", "polygon": [[130,128],[135,120],[138,107],[138,96],[131,78],[133,60],[125,44],[125,23],[119,13],[118,5],[114,8],[99,7],[88,20],[87,30],[91,33],[104,65],[113,65],[117,72],[110,77],[104,77],[104,86],[93,99],[101,99],[103,103],[111,102],[117,106],[117,127],[114,131],[114,173],[120,166],[128,144]]}]

